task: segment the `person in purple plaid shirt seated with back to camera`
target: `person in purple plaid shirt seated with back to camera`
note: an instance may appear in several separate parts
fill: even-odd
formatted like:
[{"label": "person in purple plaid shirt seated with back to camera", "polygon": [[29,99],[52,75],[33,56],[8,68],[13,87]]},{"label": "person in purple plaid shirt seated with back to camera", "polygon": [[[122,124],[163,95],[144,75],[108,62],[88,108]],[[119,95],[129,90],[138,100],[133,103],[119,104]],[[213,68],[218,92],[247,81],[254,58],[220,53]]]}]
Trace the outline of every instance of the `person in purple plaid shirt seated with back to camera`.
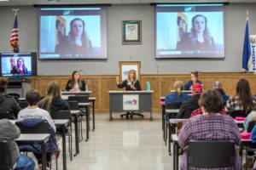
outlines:
[{"label": "person in purple plaid shirt seated with back to camera", "polygon": [[[236,145],[241,144],[240,132],[234,119],[230,116],[218,114],[223,108],[223,99],[217,91],[210,90],[201,94],[199,105],[203,115],[188,119],[178,134],[178,144],[184,151],[180,164],[181,170],[188,169],[189,140],[231,141]],[[227,167],[224,169],[231,170],[234,168]],[[236,169],[241,169],[241,157],[238,152],[236,153]]]}]

